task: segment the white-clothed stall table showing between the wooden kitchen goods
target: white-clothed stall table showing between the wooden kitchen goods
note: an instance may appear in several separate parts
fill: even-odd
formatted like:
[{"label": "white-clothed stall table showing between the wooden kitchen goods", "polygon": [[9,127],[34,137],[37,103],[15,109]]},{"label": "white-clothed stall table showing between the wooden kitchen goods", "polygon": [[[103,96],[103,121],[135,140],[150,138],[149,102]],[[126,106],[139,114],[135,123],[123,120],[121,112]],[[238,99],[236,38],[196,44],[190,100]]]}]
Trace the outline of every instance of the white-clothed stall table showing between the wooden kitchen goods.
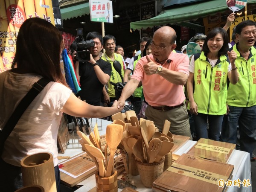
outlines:
[{"label": "white-clothed stall table showing between the wooden kitchen goods", "polygon": [[[105,134],[106,126],[111,124],[110,121],[102,120],[102,131],[99,131],[101,135]],[[93,119],[93,126],[95,125],[95,119]],[[174,154],[181,155],[189,151],[193,145],[195,145],[195,141],[188,140],[181,148],[175,151]],[[65,154],[59,154],[59,156],[74,156],[82,152],[82,149],[69,149],[65,151]],[[59,160],[62,162],[63,160]],[[227,161],[228,164],[234,165],[233,170],[233,177],[232,180],[240,179],[243,181],[244,179],[249,179],[251,184],[251,166],[250,166],[250,154],[244,151],[233,150],[229,160]],[[131,176],[131,180],[134,181],[135,186],[137,186],[137,191],[139,192],[151,192],[151,188],[146,188],[140,181],[140,175]],[[88,177],[87,179],[78,183],[78,185],[83,185],[76,192],[85,192],[93,189],[96,186],[95,182],[95,175]],[[118,191],[122,191],[122,189],[118,189]],[[237,186],[229,186],[227,187],[227,192],[252,192],[252,187],[237,187]]]}]

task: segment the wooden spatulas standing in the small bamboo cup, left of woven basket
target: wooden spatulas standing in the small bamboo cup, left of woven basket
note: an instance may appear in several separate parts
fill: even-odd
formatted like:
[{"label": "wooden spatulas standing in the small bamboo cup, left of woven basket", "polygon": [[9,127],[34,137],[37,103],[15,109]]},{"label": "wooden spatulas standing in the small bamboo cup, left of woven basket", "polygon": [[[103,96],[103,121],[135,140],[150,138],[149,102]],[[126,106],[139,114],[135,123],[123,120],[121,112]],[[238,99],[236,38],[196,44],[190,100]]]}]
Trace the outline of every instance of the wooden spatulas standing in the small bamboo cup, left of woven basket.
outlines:
[{"label": "wooden spatulas standing in the small bamboo cup, left of woven basket", "polygon": [[[81,145],[84,150],[90,157],[93,158],[97,168],[99,169],[100,177],[110,177],[113,174],[113,166],[114,166],[114,154],[116,151],[116,147],[119,145],[122,139],[124,127],[118,124],[107,125],[106,129],[106,145],[105,145],[105,155],[102,153],[102,148],[100,144],[100,137],[97,124],[94,127],[94,134],[90,133],[89,137],[87,137],[81,131],[77,131],[79,137],[81,137]],[[108,146],[108,147],[107,147]],[[108,160],[108,152],[107,148],[110,149],[110,158]],[[97,161],[97,160],[98,161]]]}]

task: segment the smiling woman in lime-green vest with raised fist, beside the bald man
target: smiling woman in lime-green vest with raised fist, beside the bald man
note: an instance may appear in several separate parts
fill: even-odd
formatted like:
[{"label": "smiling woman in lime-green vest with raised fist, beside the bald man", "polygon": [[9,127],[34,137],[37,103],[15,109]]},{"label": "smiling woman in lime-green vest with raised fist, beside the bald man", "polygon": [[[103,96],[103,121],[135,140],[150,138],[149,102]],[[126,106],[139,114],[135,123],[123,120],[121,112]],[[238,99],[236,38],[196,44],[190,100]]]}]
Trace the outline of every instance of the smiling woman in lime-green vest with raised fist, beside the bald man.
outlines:
[{"label": "smiling woman in lime-green vest with raised fist, beside the bald man", "polygon": [[[189,110],[195,119],[198,139],[219,140],[222,119],[227,112],[227,78],[232,84],[238,81],[236,53],[228,52],[228,42],[227,32],[223,28],[212,29],[205,39],[202,52],[191,58],[187,89]],[[227,72],[229,65],[233,70]]]}]

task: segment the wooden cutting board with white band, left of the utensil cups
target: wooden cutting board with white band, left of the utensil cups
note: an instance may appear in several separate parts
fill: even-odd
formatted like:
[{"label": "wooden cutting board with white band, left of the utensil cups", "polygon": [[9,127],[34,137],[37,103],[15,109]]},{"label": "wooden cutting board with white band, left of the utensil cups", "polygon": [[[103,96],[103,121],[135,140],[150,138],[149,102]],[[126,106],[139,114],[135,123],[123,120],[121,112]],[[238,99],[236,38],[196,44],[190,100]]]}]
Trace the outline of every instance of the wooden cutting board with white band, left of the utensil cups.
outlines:
[{"label": "wooden cutting board with white band, left of the utensil cups", "polygon": [[69,187],[75,186],[97,171],[93,159],[86,152],[59,163],[59,168],[61,183]]}]

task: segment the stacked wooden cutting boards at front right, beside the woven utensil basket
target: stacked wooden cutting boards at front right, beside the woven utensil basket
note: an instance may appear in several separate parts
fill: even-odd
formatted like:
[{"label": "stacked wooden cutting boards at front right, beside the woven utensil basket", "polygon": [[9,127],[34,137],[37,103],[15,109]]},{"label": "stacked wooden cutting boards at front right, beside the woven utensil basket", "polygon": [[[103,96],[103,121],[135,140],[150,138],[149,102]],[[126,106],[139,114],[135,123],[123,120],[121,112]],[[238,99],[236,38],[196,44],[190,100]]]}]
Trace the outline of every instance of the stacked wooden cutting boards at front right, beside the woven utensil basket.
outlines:
[{"label": "stacked wooden cutting boards at front right, beside the woven utensil basket", "polygon": [[234,166],[182,154],[153,183],[153,192],[223,192],[218,180],[231,178]]}]

